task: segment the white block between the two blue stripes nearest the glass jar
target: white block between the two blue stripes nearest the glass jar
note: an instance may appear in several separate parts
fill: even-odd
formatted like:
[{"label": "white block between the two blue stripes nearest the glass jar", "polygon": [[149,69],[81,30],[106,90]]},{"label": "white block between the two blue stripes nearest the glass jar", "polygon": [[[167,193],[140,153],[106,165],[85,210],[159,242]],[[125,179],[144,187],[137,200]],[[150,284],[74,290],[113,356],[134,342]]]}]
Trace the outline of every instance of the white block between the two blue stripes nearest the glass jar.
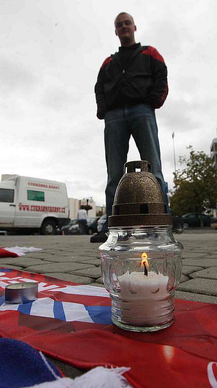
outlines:
[{"label": "white block between the two blue stripes nearest the glass jar", "polygon": [[62,302],[66,321],[79,321],[94,323],[84,305],[79,303]]}]

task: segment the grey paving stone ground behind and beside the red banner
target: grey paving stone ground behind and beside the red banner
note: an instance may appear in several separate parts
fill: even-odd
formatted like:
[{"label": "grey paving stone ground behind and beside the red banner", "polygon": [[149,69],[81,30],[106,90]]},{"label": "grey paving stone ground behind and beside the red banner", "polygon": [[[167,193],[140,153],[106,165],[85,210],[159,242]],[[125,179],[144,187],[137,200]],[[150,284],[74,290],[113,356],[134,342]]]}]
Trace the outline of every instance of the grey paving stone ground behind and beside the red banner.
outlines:
[{"label": "grey paving stone ground behind and beside the red banner", "polygon": [[[217,230],[175,235],[184,246],[183,275],[176,298],[217,304]],[[103,287],[98,247],[90,236],[4,236],[0,247],[36,247],[20,258],[0,258],[0,267],[37,272],[58,279]],[[71,365],[51,360],[66,376],[83,373]]]}]

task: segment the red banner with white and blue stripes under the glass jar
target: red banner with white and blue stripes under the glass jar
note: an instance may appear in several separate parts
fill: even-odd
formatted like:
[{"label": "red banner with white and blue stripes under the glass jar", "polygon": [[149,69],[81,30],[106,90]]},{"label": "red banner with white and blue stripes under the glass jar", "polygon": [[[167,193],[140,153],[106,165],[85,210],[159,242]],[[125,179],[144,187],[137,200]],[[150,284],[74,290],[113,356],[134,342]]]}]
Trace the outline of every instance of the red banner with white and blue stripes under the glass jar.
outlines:
[{"label": "red banner with white and blue stripes under the glass jar", "polygon": [[[37,281],[38,300],[10,305],[4,287]],[[104,288],[0,269],[0,336],[16,338],[78,368],[128,367],[135,388],[217,387],[217,305],[175,301],[176,320],[152,333],[111,322]]]}]

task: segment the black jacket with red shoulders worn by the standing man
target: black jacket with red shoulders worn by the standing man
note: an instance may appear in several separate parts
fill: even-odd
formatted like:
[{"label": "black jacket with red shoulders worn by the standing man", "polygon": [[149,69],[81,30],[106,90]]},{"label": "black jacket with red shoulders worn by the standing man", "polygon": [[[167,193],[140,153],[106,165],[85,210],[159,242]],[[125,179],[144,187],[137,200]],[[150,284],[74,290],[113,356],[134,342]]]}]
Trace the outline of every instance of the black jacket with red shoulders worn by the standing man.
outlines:
[{"label": "black jacket with red shoulders worn by the standing man", "polygon": [[154,47],[139,45],[123,69],[120,55],[115,53],[103,62],[95,93],[99,119],[119,106],[120,95],[129,104],[160,108],[168,93],[164,60]]}]

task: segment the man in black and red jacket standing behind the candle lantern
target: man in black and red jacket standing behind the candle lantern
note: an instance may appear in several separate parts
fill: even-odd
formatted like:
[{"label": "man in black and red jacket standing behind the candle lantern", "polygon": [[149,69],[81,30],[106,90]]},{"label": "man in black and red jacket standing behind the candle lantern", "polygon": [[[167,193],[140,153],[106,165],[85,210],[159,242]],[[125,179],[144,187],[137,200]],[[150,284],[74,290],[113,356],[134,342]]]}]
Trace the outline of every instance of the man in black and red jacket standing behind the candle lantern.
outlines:
[{"label": "man in black and red jacket standing behind the candle lantern", "polygon": [[[136,43],[137,27],[131,15],[121,12],[114,24],[121,46],[103,62],[95,86],[97,117],[105,119],[107,217],[111,215],[115,191],[123,175],[131,135],[141,160],[151,163],[169,211],[155,118],[155,109],[163,105],[168,93],[167,69],[154,47]],[[101,234],[92,236],[91,242],[106,241],[107,228],[108,218]]]}]

